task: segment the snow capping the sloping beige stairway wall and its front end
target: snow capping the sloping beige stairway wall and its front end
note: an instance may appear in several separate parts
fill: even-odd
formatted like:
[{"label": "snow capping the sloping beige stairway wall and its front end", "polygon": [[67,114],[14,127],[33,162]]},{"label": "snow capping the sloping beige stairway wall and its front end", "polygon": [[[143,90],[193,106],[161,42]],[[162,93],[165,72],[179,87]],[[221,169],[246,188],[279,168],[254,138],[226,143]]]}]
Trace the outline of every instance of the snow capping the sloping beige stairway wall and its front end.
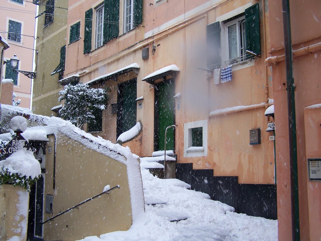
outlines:
[{"label": "snow capping the sloping beige stairway wall and its front end", "polygon": [[138,161],[139,157],[132,154],[129,147],[113,144],[109,140],[105,140],[101,137],[94,137],[90,133],[86,133],[74,126],[70,121],[65,121],[55,116],[48,117],[33,114],[32,111],[27,108],[1,104],[1,113],[1,118],[12,115],[28,115],[30,121],[42,125],[27,128],[24,136],[28,139],[37,138],[45,140],[48,134],[54,133],[55,136],[57,136],[59,133],[63,133],[67,137],[82,143],[82,145],[92,150],[124,163],[127,166],[133,222],[144,212],[144,194]]}]

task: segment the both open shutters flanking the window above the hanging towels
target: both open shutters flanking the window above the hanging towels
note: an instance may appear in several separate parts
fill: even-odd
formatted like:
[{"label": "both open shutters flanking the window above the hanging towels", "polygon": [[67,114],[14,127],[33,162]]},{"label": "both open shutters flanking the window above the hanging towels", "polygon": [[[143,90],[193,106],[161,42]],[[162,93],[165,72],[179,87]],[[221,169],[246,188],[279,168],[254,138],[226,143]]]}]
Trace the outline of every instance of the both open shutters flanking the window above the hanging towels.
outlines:
[{"label": "both open shutters flanking the window above the hanging towels", "polygon": [[[245,9],[246,50],[261,54],[259,4]],[[221,28],[220,22],[206,26],[207,66],[218,67],[221,64]]]}]

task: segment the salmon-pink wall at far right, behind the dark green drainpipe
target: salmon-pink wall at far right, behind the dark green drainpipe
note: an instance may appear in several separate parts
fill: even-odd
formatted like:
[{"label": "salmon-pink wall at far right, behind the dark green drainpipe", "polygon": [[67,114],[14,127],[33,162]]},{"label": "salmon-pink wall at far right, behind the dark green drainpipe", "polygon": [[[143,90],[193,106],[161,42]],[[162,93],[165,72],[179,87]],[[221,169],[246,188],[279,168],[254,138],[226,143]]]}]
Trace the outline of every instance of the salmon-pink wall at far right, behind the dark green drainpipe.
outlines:
[{"label": "salmon-pink wall at far right, behind the dark green drainpipe", "polygon": [[[293,50],[321,42],[320,1],[290,1],[291,36]],[[282,2],[269,2],[271,55],[284,54]],[[276,27],[279,26],[279,27]],[[308,26],[308,27],[307,27]],[[320,157],[313,148],[319,145],[319,111],[305,110],[321,103],[320,64],[321,52],[303,54],[293,58],[296,129],[298,145],[299,218],[301,240],[319,240],[320,188],[317,182],[308,181],[308,157]],[[289,160],[289,130],[284,61],[272,67],[276,134],[277,206],[279,240],[291,239],[291,183]],[[318,126],[318,128],[320,128]],[[318,146],[320,148],[320,146]],[[315,199],[314,199],[315,198]]]}]

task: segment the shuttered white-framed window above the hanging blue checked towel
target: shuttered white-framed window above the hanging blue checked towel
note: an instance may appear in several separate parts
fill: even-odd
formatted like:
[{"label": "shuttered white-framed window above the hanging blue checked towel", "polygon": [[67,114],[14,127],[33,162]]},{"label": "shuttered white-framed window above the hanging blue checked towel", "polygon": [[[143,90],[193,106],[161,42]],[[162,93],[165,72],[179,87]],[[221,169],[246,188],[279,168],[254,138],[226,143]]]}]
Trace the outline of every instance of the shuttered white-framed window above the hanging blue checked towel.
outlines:
[{"label": "shuttered white-framed window above the hanging blue checked towel", "polygon": [[[206,27],[207,67],[210,69],[240,63],[261,54],[259,4],[231,13],[236,14],[223,14],[217,18],[221,21]],[[225,16],[227,18],[221,19]]]}]

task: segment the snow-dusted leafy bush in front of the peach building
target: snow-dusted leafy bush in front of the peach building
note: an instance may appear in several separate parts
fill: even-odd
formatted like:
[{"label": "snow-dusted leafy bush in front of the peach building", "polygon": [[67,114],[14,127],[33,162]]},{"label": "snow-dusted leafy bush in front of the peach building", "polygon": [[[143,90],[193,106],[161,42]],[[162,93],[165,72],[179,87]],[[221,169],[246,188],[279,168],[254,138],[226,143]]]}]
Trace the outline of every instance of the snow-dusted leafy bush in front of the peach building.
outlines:
[{"label": "snow-dusted leafy bush in front of the peach building", "polygon": [[59,91],[59,102],[64,101],[59,110],[60,117],[83,128],[85,123],[95,123],[94,111],[105,110],[108,104],[108,88],[90,88],[86,84],[65,85]]}]

